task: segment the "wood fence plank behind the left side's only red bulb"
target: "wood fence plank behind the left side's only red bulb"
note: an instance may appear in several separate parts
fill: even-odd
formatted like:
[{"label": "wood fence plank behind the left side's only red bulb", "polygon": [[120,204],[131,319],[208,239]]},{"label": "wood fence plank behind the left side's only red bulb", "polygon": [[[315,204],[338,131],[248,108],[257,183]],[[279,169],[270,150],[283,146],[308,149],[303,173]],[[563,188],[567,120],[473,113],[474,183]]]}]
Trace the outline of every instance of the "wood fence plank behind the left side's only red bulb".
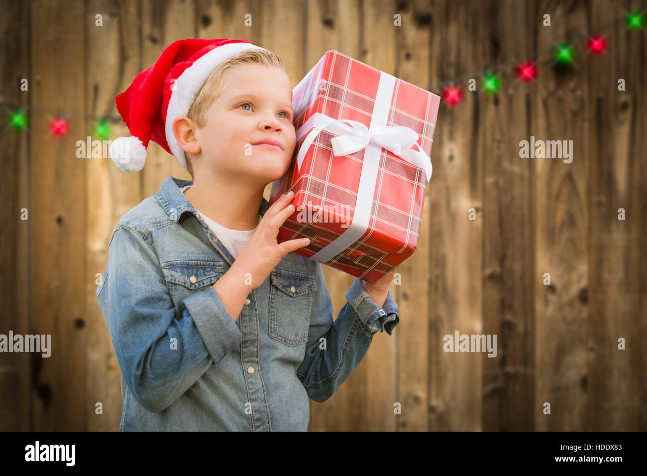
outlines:
[{"label": "wood fence plank behind the left side's only red bulb", "polygon": [[[81,1],[30,3],[30,98],[48,110],[85,111],[88,25]],[[38,431],[80,431],[87,425],[88,286],[85,253],[87,175],[76,157],[85,132],[72,113],[69,132],[49,131],[55,113],[30,115],[30,275],[34,334],[51,335],[51,356],[32,354],[32,412]]]}]

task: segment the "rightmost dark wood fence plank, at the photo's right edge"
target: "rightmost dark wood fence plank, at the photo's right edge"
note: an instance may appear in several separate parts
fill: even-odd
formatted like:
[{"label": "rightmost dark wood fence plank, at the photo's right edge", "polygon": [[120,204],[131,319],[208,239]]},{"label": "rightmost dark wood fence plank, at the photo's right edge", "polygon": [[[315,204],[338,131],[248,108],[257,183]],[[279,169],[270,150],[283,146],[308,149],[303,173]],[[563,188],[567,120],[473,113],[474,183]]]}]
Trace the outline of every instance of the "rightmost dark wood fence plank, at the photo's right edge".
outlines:
[{"label": "rightmost dark wood fence plank, at the photo's right edge", "polygon": [[[629,9],[628,3],[598,2],[587,27],[614,21]],[[606,36],[608,54],[582,58],[582,76],[590,84],[584,101],[587,151],[582,156],[589,163],[590,210],[589,287],[580,294],[589,306],[587,372],[580,377],[587,393],[582,429],[639,431],[647,415],[647,315],[644,309],[640,312],[645,295],[640,289],[645,253],[641,235],[647,228],[640,203],[647,163],[644,128],[639,127],[646,109],[644,44],[639,35],[626,31],[622,20],[614,21]],[[619,78],[626,82],[625,91],[618,91]],[[619,209],[624,209],[625,220],[619,220]],[[620,337],[626,350],[618,348]]]}]

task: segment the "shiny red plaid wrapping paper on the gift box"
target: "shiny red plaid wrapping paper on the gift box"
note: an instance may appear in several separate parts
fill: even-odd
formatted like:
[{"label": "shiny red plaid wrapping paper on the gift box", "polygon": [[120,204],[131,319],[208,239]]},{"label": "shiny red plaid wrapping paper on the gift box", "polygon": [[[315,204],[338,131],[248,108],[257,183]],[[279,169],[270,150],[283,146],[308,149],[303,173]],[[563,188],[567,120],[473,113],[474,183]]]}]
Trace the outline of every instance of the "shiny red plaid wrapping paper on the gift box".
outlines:
[{"label": "shiny red plaid wrapping paper on the gift box", "polygon": [[[367,146],[348,155],[334,156],[331,139],[338,134],[323,130],[307,151],[302,152],[302,163],[298,166],[298,153],[307,133],[313,132],[313,128],[304,124],[309,119],[310,122],[319,119],[320,116],[313,117],[319,114],[331,120],[357,121],[369,128],[374,108],[377,110],[380,78],[383,88],[384,76],[393,84],[390,102],[388,96],[386,102],[382,100],[384,106],[388,104],[388,109],[383,110],[384,125],[406,126],[415,131],[419,149],[430,155],[440,97],[424,89],[329,50],[292,92],[298,141],[287,174],[272,185],[270,205],[284,192],[294,192],[292,204],[296,211],[281,226],[277,241],[310,238],[309,245],[294,251],[298,255],[312,258],[349,229],[348,224],[355,217],[355,205],[360,203],[360,174],[365,152],[369,150]],[[314,133],[311,135],[314,137]],[[375,145],[371,146],[375,151]],[[377,179],[375,187],[371,182],[368,194],[372,191],[372,204],[367,203],[365,207],[366,212],[370,209],[366,231],[329,260],[316,259],[371,283],[416,251],[428,182],[420,166],[386,148],[378,146],[378,150],[374,154],[379,162]],[[430,163],[428,167],[430,175]],[[364,199],[370,197],[366,195]]]}]

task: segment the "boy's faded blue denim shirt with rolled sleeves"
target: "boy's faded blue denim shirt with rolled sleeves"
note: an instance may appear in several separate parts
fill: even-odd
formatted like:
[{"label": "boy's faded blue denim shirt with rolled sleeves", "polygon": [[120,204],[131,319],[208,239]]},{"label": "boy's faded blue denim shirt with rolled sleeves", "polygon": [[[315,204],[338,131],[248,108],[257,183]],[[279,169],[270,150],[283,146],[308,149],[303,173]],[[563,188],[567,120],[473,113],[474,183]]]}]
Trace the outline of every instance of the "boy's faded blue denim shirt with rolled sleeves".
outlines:
[{"label": "boy's faded blue denim shirt with rolled sleeves", "polygon": [[[168,177],[117,223],[96,289],[121,368],[120,431],[307,431],[399,322],[355,278],[333,323],[322,265],[288,253],[236,321],[213,284],[234,258]],[[259,214],[269,203],[263,198]]]}]

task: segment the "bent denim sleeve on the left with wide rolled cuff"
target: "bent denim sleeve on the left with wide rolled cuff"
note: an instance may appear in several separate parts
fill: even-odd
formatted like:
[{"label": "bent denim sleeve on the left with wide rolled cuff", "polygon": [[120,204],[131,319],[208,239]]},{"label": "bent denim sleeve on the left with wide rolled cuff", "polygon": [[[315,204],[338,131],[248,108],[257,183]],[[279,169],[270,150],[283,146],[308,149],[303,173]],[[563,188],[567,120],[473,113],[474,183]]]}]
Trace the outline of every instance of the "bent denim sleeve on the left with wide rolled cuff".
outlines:
[{"label": "bent denim sleeve on the left with wide rolled cuff", "polygon": [[128,225],[113,232],[96,293],[124,380],[149,411],[166,409],[241,343],[212,286],[186,297],[178,319],[153,243]]}]

